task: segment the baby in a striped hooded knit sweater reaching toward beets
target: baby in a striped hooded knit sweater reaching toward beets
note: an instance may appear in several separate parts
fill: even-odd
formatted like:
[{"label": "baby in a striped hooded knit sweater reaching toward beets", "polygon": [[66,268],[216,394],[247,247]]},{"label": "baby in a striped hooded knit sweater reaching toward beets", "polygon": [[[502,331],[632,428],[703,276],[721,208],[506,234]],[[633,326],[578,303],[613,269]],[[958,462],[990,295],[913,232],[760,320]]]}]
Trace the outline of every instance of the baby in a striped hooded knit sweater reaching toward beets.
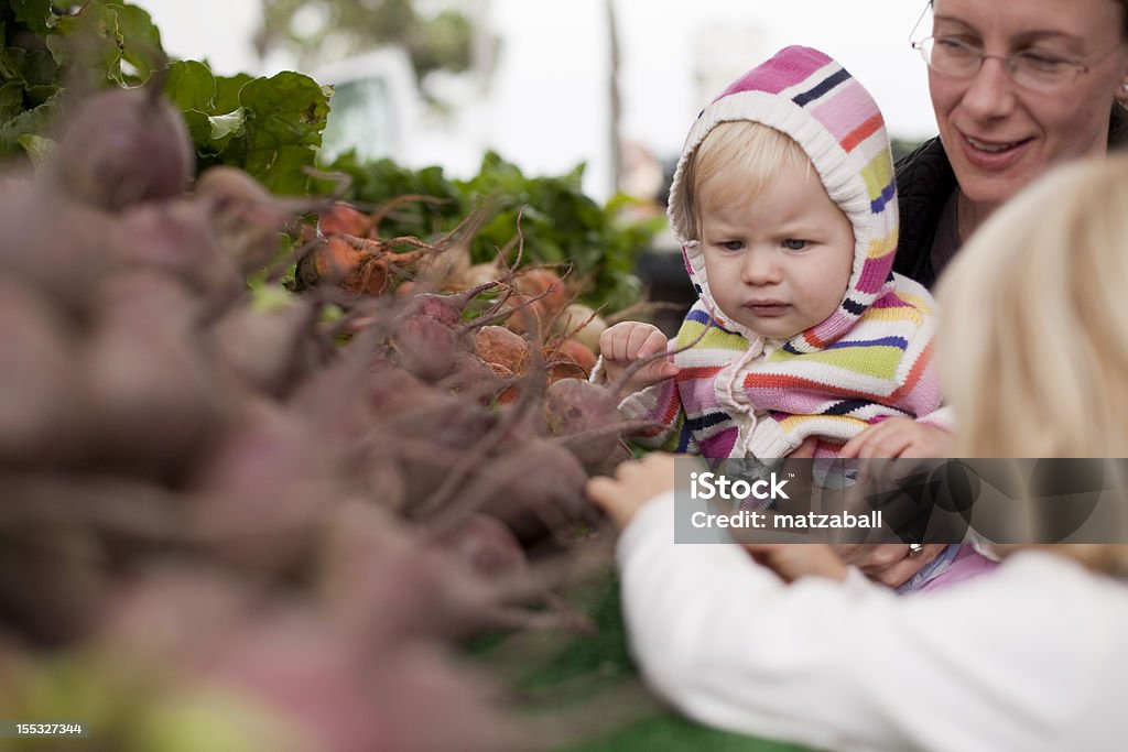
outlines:
[{"label": "baby in a striped hooded knit sweater reaching toward beets", "polygon": [[[675,343],[649,324],[607,329],[593,374],[616,380],[671,352],[633,375],[619,406],[660,426],[641,443],[711,465],[772,465],[796,450],[944,455],[934,301],[891,271],[889,139],[876,103],[838,63],[787,47],[702,110],[669,216],[699,300]],[[950,547],[907,586],[969,556]]]}]

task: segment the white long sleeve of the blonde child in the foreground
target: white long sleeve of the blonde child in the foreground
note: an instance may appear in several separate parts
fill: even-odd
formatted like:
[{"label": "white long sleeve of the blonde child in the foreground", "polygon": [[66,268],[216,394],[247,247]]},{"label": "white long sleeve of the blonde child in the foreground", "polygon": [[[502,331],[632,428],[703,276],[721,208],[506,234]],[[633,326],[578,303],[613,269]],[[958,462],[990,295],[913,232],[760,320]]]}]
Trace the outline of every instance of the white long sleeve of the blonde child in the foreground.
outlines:
[{"label": "white long sleeve of the blonde child in the foreground", "polygon": [[659,497],[624,530],[623,604],[644,680],[702,723],[834,750],[1102,749],[1128,733],[1121,583],[1033,554],[928,595],[856,573],[787,586],[739,547],[673,543],[672,510]]}]

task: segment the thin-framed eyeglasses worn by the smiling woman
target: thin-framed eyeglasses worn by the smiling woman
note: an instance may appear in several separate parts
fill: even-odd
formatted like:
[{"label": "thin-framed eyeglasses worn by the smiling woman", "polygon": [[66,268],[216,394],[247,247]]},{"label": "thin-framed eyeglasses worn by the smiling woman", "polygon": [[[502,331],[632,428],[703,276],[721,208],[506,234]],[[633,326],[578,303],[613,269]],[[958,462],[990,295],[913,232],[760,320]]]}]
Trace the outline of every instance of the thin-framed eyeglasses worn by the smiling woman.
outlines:
[{"label": "thin-framed eyeglasses worn by the smiling woman", "polygon": [[[1022,50],[1010,55],[988,55],[973,44],[954,36],[929,36],[911,43],[928,68],[959,80],[971,79],[988,57],[1002,60],[1015,85],[1030,91],[1052,94],[1087,73],[1089,65],[1040,50]],[[1117,45],[1119,47],[1119,45]],[[1102,60],[1112,52],[1102,55]]]}]

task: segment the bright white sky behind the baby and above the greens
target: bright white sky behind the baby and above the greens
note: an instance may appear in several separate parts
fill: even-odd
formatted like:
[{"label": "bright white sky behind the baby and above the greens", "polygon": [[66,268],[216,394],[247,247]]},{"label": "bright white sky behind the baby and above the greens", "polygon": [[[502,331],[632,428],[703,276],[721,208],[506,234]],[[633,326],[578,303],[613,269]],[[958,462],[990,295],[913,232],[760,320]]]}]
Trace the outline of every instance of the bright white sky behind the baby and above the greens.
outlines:
[{"label": "bright white sky behind the baby and above the greens", "polygon": [[[176,57],[206,59],[221,74],[273,73],[250,46],[258,0],[134,0]],[[493,149],[529,175],[587,162],[584,189],[610,189],[607,0],[479,0],[502,44],[486,90],[451,89],[441,138],[408,126],[408,166],[473,174]],[[620,134],[676,157],[700,108],[776,50],[803,44],[841,62],[874,96],[895,138],[935,133],[925,65],[908,38],[923,0],[611,0],[620,47]],[[458,3],[455,3],[458,5]],[[222,20],[219,20],[222,19]],[[433,120],[433,118],[432,118]]]}]

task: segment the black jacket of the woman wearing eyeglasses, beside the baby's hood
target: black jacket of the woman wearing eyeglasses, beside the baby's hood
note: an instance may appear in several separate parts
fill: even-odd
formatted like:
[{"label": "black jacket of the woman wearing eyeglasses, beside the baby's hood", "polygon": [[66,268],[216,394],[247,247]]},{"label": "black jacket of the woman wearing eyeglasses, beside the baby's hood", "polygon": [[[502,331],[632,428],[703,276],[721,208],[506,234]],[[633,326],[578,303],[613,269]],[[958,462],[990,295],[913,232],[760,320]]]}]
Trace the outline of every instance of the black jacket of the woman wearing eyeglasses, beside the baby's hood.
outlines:
[{"label": "black jacket of the woman wearing eyeglasses, beside the baby's hood", "polygon": [[[1128,145],[1128,110],[1114,106],[1109,123],[1109,149]],[[893,271],[926,287],[936,281],[932,271],[932,241],[944,203],[955,189],[955,174],[940,136],[925,141],[897,162],[897,206],[900,237]]]}]

